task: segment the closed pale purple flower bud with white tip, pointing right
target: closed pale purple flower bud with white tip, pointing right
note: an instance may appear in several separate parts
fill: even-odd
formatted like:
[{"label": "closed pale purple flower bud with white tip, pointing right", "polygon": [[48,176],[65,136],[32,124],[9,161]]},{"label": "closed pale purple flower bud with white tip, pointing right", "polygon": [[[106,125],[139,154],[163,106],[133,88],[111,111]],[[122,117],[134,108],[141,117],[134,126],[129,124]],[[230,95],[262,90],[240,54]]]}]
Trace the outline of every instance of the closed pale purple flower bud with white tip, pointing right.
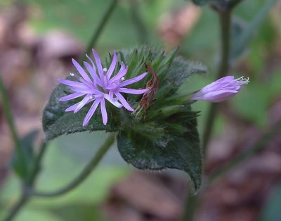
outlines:
[{"label": "closed pale purple flower bud with white tip, pointing right", "polygon": [[229,99],[240,91],[243,84],[249,83],[249,77],[246,79],[240,77],[235,79],[233,76],[222,77],[211,84],[203,87],[200,91],[192,95],[191,100],[202,100],[211,102],[221,102]]}]

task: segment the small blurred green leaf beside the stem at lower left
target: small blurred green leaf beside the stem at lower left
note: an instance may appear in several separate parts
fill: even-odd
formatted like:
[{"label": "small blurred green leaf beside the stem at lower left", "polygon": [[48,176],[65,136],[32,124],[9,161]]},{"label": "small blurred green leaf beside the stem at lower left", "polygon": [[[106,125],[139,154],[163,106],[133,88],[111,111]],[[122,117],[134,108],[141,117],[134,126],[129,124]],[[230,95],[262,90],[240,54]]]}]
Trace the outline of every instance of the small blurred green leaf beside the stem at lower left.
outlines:
[{"label": "small blurred green leaf beside the stem at lower left", "polygon": [[33,164],[34,164],[34,139],[37,137],[37,134],[39,133],[39,130],[34,130],[27,134],[25,137],[20,139],[20,148],[22,149],[22,153],[25,157],[25,162],[27,163],[25,170],[25,165],[22,165],[20,158],[18,157],[18,154],[16,151],[13,153],[11,158],[11,165],[12,168],[19,177],[22,179],[27,178],[29,175],[29,172],[32,170]]}]

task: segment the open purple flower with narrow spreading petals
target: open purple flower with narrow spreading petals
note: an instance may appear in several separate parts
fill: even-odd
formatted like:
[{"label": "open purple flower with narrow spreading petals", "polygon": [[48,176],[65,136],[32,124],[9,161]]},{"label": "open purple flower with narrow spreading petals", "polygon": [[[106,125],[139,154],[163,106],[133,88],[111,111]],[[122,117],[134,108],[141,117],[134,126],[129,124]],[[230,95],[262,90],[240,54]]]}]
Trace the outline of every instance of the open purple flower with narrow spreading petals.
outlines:
[{"label": "open purple flower with narrow spreading petals", "polygon": [[99,104],[101,109],[101,115],[103,118],[103,124],[107,124],[107,111],[105,107],[105,100],[109,101],[110,103],[112,103],[112,105],[116,106],[117,108],[122,108],[124,106],[124,108],[126,108],[127,110],[133,111],[133,108],[131,108],[124,96],[122,96],[122,94],[120,93],[143,94],[148,91],[148,89],[124,88],[124,86],[142,80],[143,77],[148,74],[147,72],[137,77],[133,77],[130,80],[124,80],[124,76],[126,75],[128,68],[126,67],[126,65],[124,65],[124,63],[122,63],[119,72],[117,72],[117,75],[112,76],[117,66],[116,52],[113,53],[112,63],[108,70],[107,68],[103,68],[103,65],[100,61],[100,57],[98,56],[98,53],[96,53],[95,50],[93,50],[93,57],[95,58],[94,60],[96,61],[96,65],[89,56],[87,56],[87,58],[89,59],[90,63],[84,62],[86,70],[88,70],[90,76],[81,67],[81,65],[77,63],[77,61],[72,59],[72,63],[81,75],[81,77],[71,73],[70,76],[74,77],[74,79],[76,79],[77,81],[63,79],[58,80],[61,84],[66,84],[67,86],[69,86],[70,89],[73,91],[72,94],[63,96],[59,99],[59,101],[69,101],[84,96],[84,98],[79,103],[75,103],[74,105],[67,108],[65,111],[73,111],[74,113],[77,113],[77,111],[83,108],[86,104],[91,103],[93,101],[89,112],[84,118],[83,126],[86,126],[88,124],[89,120],[95,113],[96,108],[98,108]]}]

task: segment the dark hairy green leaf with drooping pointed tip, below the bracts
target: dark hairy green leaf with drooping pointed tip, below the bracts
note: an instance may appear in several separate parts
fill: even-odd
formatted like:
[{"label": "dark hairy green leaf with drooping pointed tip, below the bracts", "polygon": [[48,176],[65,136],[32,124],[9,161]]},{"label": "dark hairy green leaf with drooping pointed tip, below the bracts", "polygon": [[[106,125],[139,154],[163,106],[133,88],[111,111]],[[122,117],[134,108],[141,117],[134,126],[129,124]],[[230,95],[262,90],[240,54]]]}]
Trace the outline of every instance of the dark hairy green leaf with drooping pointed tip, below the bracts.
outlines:
[{"label": "dark hairy green leaf with drooping pointed tip, below the bracts", "polygon": [[[124,160],[138,169],[184,170],[190,175],[194,190],[197,191],[201,184],[202,155],[196,114],[188,109],[186,107],[183,113],[171,115],[166,118],[165,124],[155,124],[149,130],[127,128],[119,133],[117,146]],[[185,113],[192,114],[193,118],[183,117]]]}]

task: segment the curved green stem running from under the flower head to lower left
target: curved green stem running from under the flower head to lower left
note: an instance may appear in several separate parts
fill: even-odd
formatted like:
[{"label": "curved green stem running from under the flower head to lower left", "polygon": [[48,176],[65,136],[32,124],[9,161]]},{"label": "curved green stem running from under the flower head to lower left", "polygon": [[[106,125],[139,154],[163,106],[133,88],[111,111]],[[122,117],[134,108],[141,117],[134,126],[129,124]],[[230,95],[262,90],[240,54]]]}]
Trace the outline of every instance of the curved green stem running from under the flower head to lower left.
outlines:
[{"label": "curved green stem running from under the flower head to lower left", "polygon": [[91,172],[96,168],[100,160],[105,156],[105,153],[110,149],[110,146],[112,146],[113,142],[115,141],[115,135],[111,134],[110,137],[108,137],[104,144],[100,146],[100,149],[98,149],[98,152],[93,157],[93,159],[89,162],[88,165],[84,168],[84,170],[72,181],[70,184],[67,184],[66,187],[63,187],[62,189],[59,189],[58,191],[53,192],[37,192],[30,190],[30,194],[32,196],[41,196],[41,197],[53,197],[53,196],[61,196],[63,194],[66,194],[67,192],[71,191],[75,187],[79,186],[89,175]]}]

